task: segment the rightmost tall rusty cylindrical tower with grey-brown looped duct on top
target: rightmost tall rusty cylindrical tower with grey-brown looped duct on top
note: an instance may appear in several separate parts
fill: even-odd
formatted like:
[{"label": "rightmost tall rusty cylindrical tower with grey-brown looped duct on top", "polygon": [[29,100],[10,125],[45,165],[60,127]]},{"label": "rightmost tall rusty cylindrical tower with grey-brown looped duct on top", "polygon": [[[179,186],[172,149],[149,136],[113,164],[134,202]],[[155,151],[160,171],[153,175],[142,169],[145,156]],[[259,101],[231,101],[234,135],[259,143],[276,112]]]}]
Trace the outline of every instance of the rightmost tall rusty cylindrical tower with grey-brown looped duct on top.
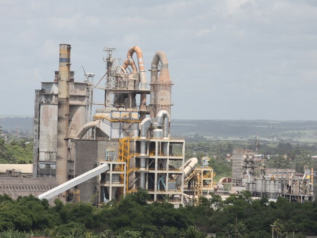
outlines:
[{"label": "rightmost tall rusty cylindrical tower with grey-brown looped duct on top", "polygon": [[[161,62],[161,72],[157,78],[157,67]],[[166,110],[171,115],[171,95],[172,82],[168,70],[168,60],[163,51],[157,51],[151,63],[151,117],[156,117],[156,113]]]}]

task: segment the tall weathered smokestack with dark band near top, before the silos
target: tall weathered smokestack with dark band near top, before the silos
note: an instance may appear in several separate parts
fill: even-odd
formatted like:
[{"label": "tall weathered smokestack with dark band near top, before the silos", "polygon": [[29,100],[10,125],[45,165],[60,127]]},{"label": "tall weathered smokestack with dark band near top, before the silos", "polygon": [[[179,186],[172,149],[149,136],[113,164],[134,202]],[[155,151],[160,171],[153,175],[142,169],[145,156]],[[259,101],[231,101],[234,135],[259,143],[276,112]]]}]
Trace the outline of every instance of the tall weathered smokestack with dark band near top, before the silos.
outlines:
[{"label": "tall weathered smokestack with dark band near top, before the silos", "polygon": [[67,181],[67,154],[70,111],[71,45],[59,45],[58,117],[56,180],[59,184]]}]

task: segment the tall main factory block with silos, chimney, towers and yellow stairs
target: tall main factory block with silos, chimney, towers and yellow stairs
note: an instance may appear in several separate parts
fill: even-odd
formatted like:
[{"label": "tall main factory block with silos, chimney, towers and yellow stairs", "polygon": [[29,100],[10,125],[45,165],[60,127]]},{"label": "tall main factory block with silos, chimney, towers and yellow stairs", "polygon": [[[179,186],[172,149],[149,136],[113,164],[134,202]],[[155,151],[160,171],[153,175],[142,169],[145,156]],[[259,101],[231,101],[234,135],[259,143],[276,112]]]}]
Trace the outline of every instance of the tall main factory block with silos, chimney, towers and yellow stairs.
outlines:
[{"label": "tall main factory block with silos, chimney, towers and yellow stairs", "polygon": [[[70,50],[60,45],[54,82],[36,90],[33,177],[55,178],[61,188],[50,194],[59,192],[65,200],[74,185],[80,201],[94,204],[138,188],[147,189],[149,202],[182,204],[184,179],[197,159],[185,163],[185,141],[170,136],[173,82],[165,53],[153,57],[149,90],[140,47],[131,47],[126,60],[115,59],[116,49],[105,47],[105,75],[96,85],[87,75],[87,81],[74,81]],[[93,102],[97,89],[104,91],[103,103]],[[102,107],[91,117],[94,104]],[[72,182],[103,164],[108,167],[98,176]]]}]

